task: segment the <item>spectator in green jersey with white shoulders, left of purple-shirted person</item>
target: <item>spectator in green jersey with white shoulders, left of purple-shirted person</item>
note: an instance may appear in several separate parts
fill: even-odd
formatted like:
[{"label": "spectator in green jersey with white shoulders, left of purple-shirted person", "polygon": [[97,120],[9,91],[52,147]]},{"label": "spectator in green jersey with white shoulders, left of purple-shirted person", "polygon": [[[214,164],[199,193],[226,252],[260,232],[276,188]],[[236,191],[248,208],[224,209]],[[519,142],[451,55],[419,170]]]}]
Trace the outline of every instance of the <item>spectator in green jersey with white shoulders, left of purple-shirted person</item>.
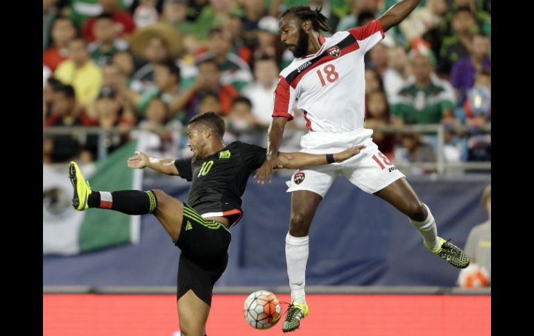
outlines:
[{"label": "spectator in green jersey with white shoulders, left of purple-shirted person", "polygon": [[403,123],[435,124],[454,119],[454,96],[441,82],[431,78],[436,60],[431,51],[415,52],[410,56],[415,80],[402,87],[392,112]]}]

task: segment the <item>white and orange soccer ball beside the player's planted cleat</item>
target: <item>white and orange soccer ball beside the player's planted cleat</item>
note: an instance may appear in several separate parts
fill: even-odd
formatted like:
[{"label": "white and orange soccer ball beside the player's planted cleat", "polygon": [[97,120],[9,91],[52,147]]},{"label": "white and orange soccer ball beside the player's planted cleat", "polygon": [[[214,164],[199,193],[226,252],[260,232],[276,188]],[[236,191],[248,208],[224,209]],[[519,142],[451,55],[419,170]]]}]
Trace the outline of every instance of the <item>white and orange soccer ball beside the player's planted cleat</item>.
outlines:
[{"label": "white and orange soccer ball beside the player's planted cleat", "polygon": [[257,329],[267,329],[274,326],[282,316],[282,306],[275,294],[258,290],[245,300],[243,312],[248,324]]}]

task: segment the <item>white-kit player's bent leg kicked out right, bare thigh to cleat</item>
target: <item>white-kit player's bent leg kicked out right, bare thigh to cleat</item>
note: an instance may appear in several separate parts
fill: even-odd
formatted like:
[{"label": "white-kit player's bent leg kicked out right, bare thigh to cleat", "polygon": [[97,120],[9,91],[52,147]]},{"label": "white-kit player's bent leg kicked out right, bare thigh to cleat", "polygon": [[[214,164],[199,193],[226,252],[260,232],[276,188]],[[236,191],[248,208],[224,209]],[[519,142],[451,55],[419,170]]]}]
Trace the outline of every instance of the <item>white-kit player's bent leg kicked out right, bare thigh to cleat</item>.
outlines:
[{"label": "white-kit player's bent leg kicked out right, bare thigh to cleat", "polygon": [[429,207],[419,200],[405,177],[397,179],[374,195],[408,216],[413,227],[421,233],[423,244],[427,249],[444,258],[454,267],[465,268],[469,265],[469,257],[462,249],[438,237],[436,220]]}]

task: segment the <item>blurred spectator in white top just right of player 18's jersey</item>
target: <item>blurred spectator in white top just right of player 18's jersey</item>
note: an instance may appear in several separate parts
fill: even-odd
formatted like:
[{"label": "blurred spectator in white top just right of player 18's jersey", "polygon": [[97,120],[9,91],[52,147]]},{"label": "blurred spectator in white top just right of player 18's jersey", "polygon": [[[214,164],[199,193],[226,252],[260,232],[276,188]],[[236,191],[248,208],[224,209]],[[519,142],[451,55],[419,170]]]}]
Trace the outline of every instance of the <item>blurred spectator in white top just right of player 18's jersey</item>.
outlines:
[{"label": "blurred spectator in white top just right of player 18's jersey", "polygon": [[388,101],[395,100],[400,89],[408,83],[412,74],[408,63],[408,55],[402,46],[394,46],[388,50],[388,69],[384,71],[384,90]]}]

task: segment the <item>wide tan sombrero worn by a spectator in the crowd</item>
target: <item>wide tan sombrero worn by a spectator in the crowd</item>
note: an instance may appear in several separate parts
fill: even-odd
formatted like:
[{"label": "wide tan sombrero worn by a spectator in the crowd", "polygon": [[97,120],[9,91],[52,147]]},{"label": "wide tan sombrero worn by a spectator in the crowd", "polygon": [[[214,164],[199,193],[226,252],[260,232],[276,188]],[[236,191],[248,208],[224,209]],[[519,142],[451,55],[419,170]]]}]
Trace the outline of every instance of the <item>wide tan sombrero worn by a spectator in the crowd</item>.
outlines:
[{"label": "wide tan sombrero worn by a spectator in the crowd", "polygon": [[150,26],[137,28],[130,36],[130,48],[137,55],[143,56],[146,46],[153,36],[161,37],[166,41],[172,58],[178,58],[182,55],[182,35],[173,26],[164,22],[156,22]]}]

